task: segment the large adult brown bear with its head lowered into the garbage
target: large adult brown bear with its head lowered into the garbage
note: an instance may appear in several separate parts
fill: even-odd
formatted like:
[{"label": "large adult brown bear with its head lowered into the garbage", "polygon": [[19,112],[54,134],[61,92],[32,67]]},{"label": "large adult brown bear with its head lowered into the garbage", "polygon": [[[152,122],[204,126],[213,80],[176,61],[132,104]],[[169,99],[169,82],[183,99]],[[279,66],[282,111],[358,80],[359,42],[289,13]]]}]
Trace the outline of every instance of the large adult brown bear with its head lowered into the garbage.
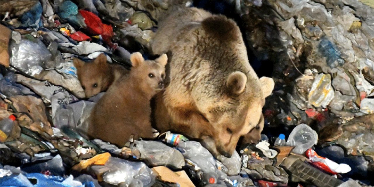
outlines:
[{"label": "large adult brown bear with its head lowered into the garbage", "polygon": [[261,123],[274,88],[273,79],[258,79],[249,65],[236,23],[183,8],[159,22],[151,48],[169,58],[165,91],[155,96],[154,127],[213,138],[216,150],[230,157],[239,138]]}]

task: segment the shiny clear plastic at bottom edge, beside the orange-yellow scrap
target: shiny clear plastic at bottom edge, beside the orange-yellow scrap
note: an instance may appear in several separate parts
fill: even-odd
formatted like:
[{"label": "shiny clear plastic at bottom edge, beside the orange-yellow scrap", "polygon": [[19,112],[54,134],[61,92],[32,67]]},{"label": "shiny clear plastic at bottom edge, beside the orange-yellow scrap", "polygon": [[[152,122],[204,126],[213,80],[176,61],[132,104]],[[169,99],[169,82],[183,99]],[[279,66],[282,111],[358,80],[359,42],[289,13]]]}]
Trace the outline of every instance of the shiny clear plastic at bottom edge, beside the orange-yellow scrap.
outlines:
[{"label": "shiny clear plastic at bottom edge, beside the orange-yellow scrap", "polygon": [[104,166],[90,166],[90,171],[95,174],[102,174],[106,183],[126,186],[142,184],[144,187],[150,187],[155,176],[153,171],[143,162],[131,162],[116,157],[110,157]]}]

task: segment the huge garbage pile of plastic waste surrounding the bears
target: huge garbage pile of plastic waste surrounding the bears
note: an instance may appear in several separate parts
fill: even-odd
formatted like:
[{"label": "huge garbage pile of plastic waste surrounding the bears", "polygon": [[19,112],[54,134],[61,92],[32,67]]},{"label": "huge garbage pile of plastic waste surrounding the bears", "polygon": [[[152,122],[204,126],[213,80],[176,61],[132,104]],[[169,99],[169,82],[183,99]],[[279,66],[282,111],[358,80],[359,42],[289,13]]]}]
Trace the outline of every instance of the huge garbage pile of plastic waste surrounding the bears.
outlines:
[{"label": "huge garbage pile of plastic waste surrounding the bears", "polygon": [[147,58],[157,19],[192,1],[0,0],[0,186],[373,184],[374,9],[239,2],[252,66],[272,61],[276,88],[260,143],[215,158],[170,132],[125,147],[81,133],[104,93],[85,99],[73,58],[105,53],[129,69],[132,52]]}]

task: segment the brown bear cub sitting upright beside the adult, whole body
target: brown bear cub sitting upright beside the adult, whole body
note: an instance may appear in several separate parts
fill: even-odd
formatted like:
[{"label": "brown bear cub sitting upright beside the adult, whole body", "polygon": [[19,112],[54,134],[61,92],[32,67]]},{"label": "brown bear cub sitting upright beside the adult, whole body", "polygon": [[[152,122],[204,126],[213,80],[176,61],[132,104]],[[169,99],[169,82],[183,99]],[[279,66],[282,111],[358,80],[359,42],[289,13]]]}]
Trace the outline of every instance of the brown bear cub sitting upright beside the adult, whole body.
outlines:
[{"label": "brown bear cub sitting upright beside the adult, whole body", "polygon": [[100,98],[91,112],[90,138],[123,146],[134,139],[153,138],[150,99],[164,88],[166,54],[144,60],[141,53],[130,56],[128,75],[120,77]]}]

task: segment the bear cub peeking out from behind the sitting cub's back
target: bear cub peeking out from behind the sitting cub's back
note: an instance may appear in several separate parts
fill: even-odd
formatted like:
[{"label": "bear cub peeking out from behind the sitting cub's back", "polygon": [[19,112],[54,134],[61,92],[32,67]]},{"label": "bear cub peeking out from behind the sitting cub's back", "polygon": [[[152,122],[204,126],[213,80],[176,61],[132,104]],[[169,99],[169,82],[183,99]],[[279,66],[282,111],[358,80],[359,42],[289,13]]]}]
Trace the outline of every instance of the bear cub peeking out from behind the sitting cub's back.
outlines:
[{"label": "bear cub peeking out from behind the sitting cub's back", "polygon": [[74,58],[73,64],[77,68],[78,80],[85,91],[86,98],[107,91],[113,82],[129,73],[129,70],[122,65],[107,63],[104,53],[91,62]]}]

